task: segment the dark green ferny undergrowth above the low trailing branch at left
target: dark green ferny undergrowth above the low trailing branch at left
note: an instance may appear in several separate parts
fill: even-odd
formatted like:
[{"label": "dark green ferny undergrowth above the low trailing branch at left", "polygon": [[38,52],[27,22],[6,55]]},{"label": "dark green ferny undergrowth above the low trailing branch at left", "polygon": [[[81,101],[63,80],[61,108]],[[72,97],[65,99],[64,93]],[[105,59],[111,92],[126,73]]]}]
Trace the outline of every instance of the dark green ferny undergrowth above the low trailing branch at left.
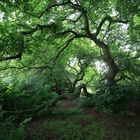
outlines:
[{"label": "dark green ferny undergrowth above the low trailing branch at left", "polygon": [[[1,94],[0,96],[1,111],[3,110],[6,112],[11,111],[11,113],[12,112],[14,113],[15,111],[18,113],[18,111],[26,112],[26,110],[28,111],[30,110],[29,112],[27,111],[27,114],[25,113],[25,116],[28,115],[28,113],[31,116],[32,115],[40,116],[41,114],[50,113],[52,107],[55,105],[57,101],[58,95],[56,93],[50,92],[47,86],[46,88],[44,87],[38,90],[32,89],[32,91],[34,92],[30,93],[28,91],[28,93],[22,93],[22,90],[21,92],[16,91],[14,92],[13,90],[11,92],[11,90],[10,91],[8,90],[5,93]],[[38,107],[40,108],[40,110],[37,109]],[[4,114],[6,112],[4,112]],[[22,113],[21,114],[19,113],[17,115],[22,115]]]}]

